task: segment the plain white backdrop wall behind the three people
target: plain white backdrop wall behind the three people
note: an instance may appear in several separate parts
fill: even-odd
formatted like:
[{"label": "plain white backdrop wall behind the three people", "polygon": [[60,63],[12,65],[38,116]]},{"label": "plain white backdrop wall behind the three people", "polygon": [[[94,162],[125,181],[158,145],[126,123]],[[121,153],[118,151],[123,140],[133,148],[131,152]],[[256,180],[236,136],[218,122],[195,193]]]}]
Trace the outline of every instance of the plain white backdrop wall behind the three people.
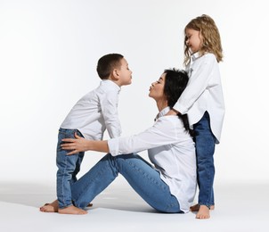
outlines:
[{"label": "plain white backdrop wall behind the three people", "polygon": [[[265,1],[0,1],[0,181],[54,183],[57,132],[73,104],[99,85],[103,54],[124,54],[123,135],[151,126],[151,82],[183,68],[183,28],[202,13],[222,37],[226,114],[216,182],[269,182],[268,11]],[[141,153],[146,158],[146,153]],[[102,153],[86,153],[81,174]]]}]

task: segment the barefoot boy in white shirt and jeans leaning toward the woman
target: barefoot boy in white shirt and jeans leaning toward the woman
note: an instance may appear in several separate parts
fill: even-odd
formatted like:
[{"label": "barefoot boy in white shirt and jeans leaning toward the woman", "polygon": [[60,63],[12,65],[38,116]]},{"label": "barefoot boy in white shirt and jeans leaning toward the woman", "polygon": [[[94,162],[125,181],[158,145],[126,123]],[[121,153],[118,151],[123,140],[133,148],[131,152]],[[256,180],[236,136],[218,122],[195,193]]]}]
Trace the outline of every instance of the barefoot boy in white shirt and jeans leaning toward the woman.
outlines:
[{"label": "barefoot boy in white shirt and jeans leaning toward the woman", "polygon": [[102,140],[105,129],[109,136],[119,137],[121,134],[118,120],[118,93],[120,87],[131,84],[132,71],[121,54],[106,54],[97,63],[97,73],[102,79],[99,87],[84,95],[73,106],[65,120],[61,123],[57,145],[57,199],[45,204],[40,211],[55,211],[63,214],[86,214],[72,204],[70,185],[77,181],[77,173],[84,153],[66,155],[61,149],[61,139],[80,137]]}]

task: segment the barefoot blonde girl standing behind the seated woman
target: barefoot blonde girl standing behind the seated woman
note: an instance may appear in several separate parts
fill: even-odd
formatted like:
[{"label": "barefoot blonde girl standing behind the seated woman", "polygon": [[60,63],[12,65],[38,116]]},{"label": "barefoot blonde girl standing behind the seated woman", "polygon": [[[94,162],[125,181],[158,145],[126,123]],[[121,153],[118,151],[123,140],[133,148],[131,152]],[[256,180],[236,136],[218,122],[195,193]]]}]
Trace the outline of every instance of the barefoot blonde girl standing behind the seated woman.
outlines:
[{"label": "barefoot blonde girl standing behind the seated woman", "polygon": [[208,219],[214,209],[213,181],[215,144],[221,137],[224,121],[224,96],[218,62],[223,59],[219,31],[208,15],[190,21],[185,29],[184,64],[190,81],[168,115],[187,113],[194,129],[196,145],[198,204],[191,211],[198,211],[197,219]]}]

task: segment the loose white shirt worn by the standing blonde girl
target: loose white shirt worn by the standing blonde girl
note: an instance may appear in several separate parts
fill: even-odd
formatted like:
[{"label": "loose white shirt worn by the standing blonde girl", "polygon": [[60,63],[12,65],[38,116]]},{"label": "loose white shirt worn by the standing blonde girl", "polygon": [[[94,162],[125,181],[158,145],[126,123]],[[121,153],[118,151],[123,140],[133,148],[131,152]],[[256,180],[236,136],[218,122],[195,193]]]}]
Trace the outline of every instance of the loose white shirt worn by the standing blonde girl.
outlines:
[{"label": "loose white shirt worn by the standing blonde girl", "polygon": [[214,54],[192,55],[187,67],[189,82],[173,107],[182,114],[187,113],[190,125],[198,122],[208,111],[210,127],[219,143],[224,122],[224,95],[218,63]]}]

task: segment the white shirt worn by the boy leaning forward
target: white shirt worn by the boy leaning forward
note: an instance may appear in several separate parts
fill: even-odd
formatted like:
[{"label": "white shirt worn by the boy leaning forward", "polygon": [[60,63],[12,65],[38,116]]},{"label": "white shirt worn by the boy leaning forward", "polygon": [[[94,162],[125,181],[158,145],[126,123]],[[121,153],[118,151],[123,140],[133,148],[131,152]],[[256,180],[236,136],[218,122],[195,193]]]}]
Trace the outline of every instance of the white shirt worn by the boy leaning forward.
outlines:
[{"label": "white shirt worn by the boy leaning forward", "polygon": [[118,93],[120,87],[110,79],[84,95],[73,106],[61,128],[78,129],[86,139],[102,140],[107,128],[110,137],[121,134],[118,120]]}]

